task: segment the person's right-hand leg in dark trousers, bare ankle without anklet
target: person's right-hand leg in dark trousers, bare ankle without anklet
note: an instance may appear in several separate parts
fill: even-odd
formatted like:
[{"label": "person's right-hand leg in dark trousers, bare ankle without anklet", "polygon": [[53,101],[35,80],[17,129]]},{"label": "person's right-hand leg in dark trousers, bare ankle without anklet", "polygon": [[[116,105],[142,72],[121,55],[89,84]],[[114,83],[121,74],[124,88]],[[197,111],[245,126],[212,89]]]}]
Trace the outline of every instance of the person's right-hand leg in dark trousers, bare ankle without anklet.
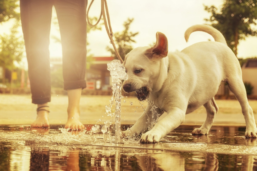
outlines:
[{"label": "person's right-hand leg in dark trousers, bare ankle without anklet", "polygon": [[84,129],[79,101],[86,87],[86,6],[85,0],[57,0],[54,4],[60,26],[64,89],[68,91],[68,121],[65,128]]}]

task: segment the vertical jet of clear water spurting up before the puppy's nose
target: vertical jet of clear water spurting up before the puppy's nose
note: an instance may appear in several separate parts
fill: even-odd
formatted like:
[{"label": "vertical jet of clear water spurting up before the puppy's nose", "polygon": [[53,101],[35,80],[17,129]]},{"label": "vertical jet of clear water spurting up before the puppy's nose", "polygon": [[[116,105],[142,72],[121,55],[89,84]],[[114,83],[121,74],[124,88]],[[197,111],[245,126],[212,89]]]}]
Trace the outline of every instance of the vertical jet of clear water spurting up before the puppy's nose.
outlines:
[{"label": "vertical jet of clear water spurting up before the puppy's nose", "polygon": [[113,95],[110,100],[110,104],[106,107],[106,114],[107,116],[114,116],[112,113],[112,106],[114,104],[114,97],[115,97],[115,143],[120,143],[120,134],[121,134],[121,88],[122,88],[122,81],[128,78],[126,74],[126,70],[124,66],[121,64],[120,60],[113,60],[107,63],[107,70],[110,71],[112,77],[112,90]]}]

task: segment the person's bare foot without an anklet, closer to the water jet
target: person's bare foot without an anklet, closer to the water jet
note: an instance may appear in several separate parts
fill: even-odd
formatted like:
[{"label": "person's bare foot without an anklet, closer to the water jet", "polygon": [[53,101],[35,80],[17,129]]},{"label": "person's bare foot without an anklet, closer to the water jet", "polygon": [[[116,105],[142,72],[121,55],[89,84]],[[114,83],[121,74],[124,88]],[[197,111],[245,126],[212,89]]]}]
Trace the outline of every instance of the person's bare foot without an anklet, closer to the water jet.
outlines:
[{"label": "person's bare foot without an anklet, closer to the water jet", "polygon": [[64,128],[71,130],[82,130],[85,126],[80,122],[79,113],[68,113],[68,120]]}]

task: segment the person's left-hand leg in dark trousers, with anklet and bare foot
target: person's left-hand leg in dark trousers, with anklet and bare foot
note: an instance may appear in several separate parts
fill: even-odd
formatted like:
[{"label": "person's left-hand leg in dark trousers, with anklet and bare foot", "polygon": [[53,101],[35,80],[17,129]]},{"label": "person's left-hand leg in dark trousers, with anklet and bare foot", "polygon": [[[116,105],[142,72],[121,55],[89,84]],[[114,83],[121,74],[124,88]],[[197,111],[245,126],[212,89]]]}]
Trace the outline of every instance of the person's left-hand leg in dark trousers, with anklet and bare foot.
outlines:
[{"label": "person's left-hand leg in dark trousers, with anklet and bare foot", "polygon": [[[24,35],[32,103],[47,106],[51,100],[49,35],[52,16],[51,0],[21,0],[21,22]],[[32,127],[49,127],[48,107],[38,111]]]}]

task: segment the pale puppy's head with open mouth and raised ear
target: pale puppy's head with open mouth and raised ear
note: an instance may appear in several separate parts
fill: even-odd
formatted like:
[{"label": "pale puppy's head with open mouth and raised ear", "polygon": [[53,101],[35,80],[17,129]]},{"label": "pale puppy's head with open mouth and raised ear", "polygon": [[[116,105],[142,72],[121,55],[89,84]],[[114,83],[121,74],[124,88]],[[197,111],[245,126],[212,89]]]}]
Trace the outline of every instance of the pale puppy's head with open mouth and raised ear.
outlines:
[{"label": "pale puppy's head with open mouth and raised ear", "polygon": [[145,100],[155,91],[160,75],[161,59],[168,54],[167,37],[156,33],[156,43],[152,46],[138,47],[130,51],[123,63],[128,79],[123,82],[123,90],[127,93],[136,92],[137,99]]}]

